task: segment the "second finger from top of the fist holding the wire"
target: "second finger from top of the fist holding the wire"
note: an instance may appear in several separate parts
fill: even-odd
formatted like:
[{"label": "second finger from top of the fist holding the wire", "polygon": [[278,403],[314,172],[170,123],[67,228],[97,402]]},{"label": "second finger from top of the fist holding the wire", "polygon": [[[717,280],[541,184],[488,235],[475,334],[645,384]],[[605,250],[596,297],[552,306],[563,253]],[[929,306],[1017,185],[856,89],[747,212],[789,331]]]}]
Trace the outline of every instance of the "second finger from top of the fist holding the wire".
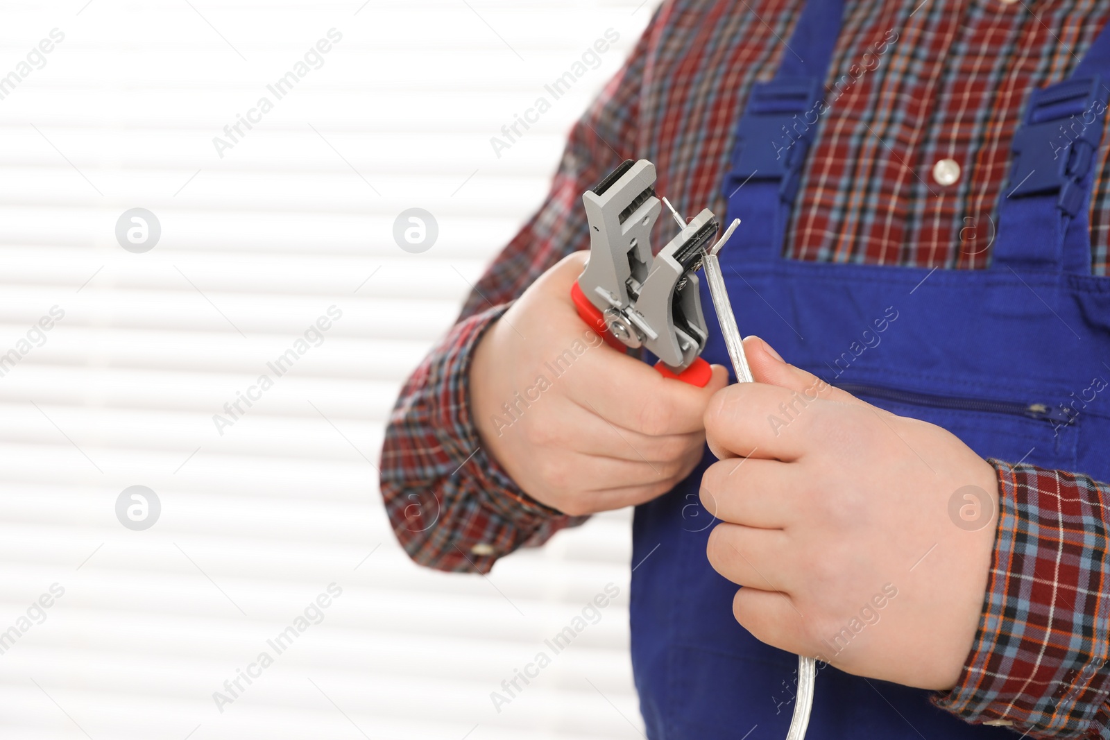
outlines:
[{"label": "second finger from top of the fist holding the wire", "polygon": [[714,463],[702,476],[702,505],[722,521],[783,529],[800,511],[798,466],[753,457]]}]

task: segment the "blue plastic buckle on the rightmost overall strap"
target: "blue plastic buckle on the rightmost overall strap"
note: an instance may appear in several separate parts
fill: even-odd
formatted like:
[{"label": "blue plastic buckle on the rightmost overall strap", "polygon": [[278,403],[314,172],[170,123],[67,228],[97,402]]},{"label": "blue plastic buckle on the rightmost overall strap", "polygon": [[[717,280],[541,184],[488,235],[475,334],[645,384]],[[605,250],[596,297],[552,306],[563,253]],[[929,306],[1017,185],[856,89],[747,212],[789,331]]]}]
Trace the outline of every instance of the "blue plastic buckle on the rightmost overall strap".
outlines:
[{"label": "blue plastic buckle on the rightmost overall strap", "polygon": [[[1059,192],[1057,207],[1074,216],[1083,207],[1082,182],[1102,139],[1110,91],[1099,75],[1035,90],[1013,134],[1010,196]],[[1078,118],[1077,118],[1078,116]]]}]

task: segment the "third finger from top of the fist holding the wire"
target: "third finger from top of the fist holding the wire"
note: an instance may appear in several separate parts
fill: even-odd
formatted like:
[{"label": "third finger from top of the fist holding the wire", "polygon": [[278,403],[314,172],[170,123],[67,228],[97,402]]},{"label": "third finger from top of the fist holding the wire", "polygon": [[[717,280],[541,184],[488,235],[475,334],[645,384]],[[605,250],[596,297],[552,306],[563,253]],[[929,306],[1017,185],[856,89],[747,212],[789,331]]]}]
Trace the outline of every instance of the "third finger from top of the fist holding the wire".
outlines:
[{"label": "third finger from top of the fist holding the wire", "polygon": [[790,539],[780,529],[718,524],[705,551],[713,569],[738,586],[790,592],[798,580]]}]

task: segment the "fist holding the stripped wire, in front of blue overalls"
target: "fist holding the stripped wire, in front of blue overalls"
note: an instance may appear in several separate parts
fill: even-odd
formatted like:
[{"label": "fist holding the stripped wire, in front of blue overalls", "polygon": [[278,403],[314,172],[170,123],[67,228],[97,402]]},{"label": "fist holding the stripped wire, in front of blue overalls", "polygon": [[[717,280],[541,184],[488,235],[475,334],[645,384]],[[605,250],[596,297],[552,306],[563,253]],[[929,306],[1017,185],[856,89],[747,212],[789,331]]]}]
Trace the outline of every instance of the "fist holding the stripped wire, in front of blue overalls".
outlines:
[{"label": "fist holding the stripped wire, in front of blue overalls", "polygon": [[737,621],[850,673],[951,688],[982,611],[995,469],[939,426],[834,388],[763,339],[744,344],[756,382],[709,404],[720,460],[702,480],[723,521],[709,562],[744,586]]}]

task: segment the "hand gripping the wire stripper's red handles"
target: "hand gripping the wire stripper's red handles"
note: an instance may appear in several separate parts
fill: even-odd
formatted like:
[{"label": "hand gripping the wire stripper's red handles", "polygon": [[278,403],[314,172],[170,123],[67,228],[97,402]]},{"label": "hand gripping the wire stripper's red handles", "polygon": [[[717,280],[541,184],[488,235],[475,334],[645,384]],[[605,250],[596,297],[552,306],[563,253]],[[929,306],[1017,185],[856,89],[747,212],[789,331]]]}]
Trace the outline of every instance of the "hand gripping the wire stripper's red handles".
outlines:
[{"label": "hand gripping the wire stripper's red handles", "polygon": [[578,317],[571,286],[587,252],[544,273],[480,341],[471,410],[487,453],[529,496],[579,516],[648,501],[702,459],[704,388],[666,379],[607,346]]}]

